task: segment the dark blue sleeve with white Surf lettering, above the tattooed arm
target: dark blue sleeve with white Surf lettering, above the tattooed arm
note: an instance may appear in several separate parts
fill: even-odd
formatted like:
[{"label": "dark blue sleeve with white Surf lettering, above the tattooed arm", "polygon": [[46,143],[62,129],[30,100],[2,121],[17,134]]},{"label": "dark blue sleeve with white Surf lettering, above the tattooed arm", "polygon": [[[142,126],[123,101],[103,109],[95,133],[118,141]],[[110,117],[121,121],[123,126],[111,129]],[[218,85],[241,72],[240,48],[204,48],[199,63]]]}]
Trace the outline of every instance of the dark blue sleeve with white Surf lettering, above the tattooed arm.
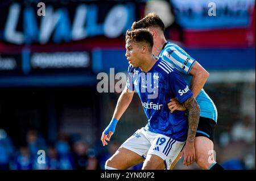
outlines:
[{"label": "dark blue sleeve with white Surf lettering, above the tattooed arm", "polygon": [[168,74],[168,81],[172,93],[180,103],[185,102],[185,100],[193,95],[192,91],[189,89],[189,86],[187,83],[185,83],[183,77],[181,77],[177,70]]}]

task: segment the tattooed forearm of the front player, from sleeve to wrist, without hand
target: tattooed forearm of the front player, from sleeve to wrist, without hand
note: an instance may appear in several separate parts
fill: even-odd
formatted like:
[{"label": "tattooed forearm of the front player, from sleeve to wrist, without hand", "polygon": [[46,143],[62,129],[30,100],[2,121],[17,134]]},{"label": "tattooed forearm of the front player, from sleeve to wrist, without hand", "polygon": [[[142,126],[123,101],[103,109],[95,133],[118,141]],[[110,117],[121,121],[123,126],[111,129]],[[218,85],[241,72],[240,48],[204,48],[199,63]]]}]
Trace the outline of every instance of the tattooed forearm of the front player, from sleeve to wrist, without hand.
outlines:
[{"label": "tattooed forearm of the front player, from sleeve to wrist, without hand", "polygon": [[197,125],[200,117],[200,107],[196,102],[194,96],[191,96],[188,100],[183,103],[183,106],[188,109],[188,142],[195,141]]}]

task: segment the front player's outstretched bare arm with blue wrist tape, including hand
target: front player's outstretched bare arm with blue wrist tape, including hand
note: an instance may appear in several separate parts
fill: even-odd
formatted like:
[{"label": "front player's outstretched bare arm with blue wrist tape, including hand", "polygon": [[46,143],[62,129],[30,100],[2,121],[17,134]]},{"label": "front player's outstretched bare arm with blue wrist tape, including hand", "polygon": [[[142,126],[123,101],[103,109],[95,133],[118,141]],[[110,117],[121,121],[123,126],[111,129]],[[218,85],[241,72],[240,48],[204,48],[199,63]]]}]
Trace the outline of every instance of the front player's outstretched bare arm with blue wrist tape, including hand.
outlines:
[{"label": "front player's outstretched bare arm with blue wrist tape, including hand", "polygon": [[104,146],[108,145],[108,142],[106,142],[106,140],[109,141],[112,134],[114,134],[115,126],[117,125],[118,120],[131,103],[133,95],[134,91],[129,90],[126,86],[125,89],[122,91],[121,95],[119,96],[112,120],[110,121],[108,127],[106,127],[104,132],[102,132],[101,141]]}]

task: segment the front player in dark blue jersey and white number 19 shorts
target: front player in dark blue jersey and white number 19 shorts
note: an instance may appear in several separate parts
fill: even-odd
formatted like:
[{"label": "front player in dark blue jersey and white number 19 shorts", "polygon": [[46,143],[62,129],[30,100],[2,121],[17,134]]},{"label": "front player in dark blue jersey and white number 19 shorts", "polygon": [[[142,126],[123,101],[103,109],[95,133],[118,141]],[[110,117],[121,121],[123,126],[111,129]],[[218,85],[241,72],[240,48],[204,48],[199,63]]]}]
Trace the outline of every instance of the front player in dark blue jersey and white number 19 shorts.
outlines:
[{"label": "front player in dark blue jersey and white number 19 shorts", "polygon": [[[126,32],[125,56],[130,64],[127,83],[119,96],[112,121],[102,133],[102,144],[108,145],[106,141],[115,132],[115,126],[135,91],[141,99],[148,123],[106,161],[107,170],[125,170],[143,161],[142,169],[170,169],[181,149],[188,165],[195,161],[194,141],[200,107],[179,71],[171,68],[167,61],[156,60],[152,56],[153,44],[151,33],[145,29]],[[184,104],[188,117],[185,111],[170,112],[167,103],[171,98]]]}]

